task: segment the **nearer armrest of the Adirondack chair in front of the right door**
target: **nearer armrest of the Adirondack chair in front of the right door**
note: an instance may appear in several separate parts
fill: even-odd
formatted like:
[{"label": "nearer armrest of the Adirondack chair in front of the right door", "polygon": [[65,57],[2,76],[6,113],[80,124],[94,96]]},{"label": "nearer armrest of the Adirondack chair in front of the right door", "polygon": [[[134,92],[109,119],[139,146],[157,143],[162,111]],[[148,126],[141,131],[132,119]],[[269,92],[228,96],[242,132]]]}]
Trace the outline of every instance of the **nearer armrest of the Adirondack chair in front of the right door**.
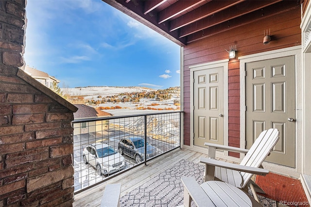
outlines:
[{"label": "nearer armrest of the Adirondack chair in front of the right door", "polygon": [[207,157],[200,157],[200,162],[204,163],[206,165],[211,165],[211,166],[216,166],[216,167],[221,167],[221,168],[227,168],[227,169],[236,170],[236,171],[242,171],[245,173],[252,173],[252,174],[259,174],[259,175],[266,175],[269,173],[269,171],[265,170],[265,169],[223,162],[220,160],[210,159]]}]

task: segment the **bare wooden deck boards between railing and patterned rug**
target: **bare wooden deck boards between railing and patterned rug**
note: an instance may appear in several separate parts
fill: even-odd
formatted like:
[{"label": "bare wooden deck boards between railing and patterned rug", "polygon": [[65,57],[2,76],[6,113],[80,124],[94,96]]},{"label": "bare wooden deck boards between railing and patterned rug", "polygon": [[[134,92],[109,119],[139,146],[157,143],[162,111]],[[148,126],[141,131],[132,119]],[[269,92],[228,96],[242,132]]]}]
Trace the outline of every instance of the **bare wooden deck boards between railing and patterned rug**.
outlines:
[{"label": "bare wooden deck boards between railing and patterned rug", "polygon": [[201,156],[207,155],[186,149],[175,149],[165,155],[159,156],[130,171],[122,173],[102,184],[74,195],[73,207],[98,207],[101,204],[102,195],[106,184],[121,183],[121,197],[131,190],[147,182],[154,176],[172,167],[181,159],[199,163]]}]

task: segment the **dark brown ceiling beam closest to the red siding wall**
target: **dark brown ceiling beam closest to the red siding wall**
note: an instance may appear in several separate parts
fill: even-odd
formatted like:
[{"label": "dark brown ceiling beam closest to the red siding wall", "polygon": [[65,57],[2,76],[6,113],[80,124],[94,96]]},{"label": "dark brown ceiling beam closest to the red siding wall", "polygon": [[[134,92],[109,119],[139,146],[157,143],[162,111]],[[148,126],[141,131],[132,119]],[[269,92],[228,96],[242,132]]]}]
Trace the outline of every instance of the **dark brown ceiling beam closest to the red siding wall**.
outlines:
[{"label": "dark brown ceiling beam closest to the red siding wall", "polygon": [[233,28],[241,27],[251,22],[255,22],[267,17],[272,17],[274,15],[281,14],[297,8],[299,8],[299,5],[296,3],[296,1],[282,1],[277,3],[277,6],[276,4],[271,5],[267,8],[264,8],[262,11],[258,10],[246,14],[242,17],[232,19],[229,22],[223,22],[208,29],[204,29],[200,32],[191,34],[187,36],[187,43],[194,42],[196,40],[203,39],[208,36],[217,35],[219,33],[231,30]]}]

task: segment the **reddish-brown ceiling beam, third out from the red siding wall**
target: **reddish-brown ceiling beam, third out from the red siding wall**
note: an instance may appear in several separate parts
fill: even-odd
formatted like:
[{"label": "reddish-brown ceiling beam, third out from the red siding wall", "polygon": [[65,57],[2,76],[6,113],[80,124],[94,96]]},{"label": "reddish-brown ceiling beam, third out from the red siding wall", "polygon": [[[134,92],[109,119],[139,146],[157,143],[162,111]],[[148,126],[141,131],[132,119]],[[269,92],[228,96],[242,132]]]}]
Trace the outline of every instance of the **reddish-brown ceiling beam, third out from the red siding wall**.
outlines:
[{"label": "reddish-brown ceiling beam, third out from the red siding wall", "polygon": [[182,17],[177,17],[170,21],[170,32],[223,11],[231,6],[241,3],[242,1],[244,0],[212,0],[195,10],[188,12]]}]

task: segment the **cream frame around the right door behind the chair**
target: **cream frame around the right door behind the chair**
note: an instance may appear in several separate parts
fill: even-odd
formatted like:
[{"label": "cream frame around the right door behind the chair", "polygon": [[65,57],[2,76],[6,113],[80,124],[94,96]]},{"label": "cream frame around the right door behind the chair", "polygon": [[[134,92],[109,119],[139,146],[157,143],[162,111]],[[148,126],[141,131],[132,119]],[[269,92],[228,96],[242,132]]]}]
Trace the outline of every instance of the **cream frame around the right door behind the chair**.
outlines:
[{"label": "cream frame around the right door behind the chair", "polygon": [[299,177],[301,173],[301,158],[302,158],[302,52],[301,46],[294,46],[269,52],[261,52],[251,55],[239,57],[240,60],[240,147],[245,148],[245,63],[261,61],[285,56],[295,56],[295,163],[296,167],[286,167],[275,163],[264,162],[265,168],[275,173],[290,174],[294,177]]}]

